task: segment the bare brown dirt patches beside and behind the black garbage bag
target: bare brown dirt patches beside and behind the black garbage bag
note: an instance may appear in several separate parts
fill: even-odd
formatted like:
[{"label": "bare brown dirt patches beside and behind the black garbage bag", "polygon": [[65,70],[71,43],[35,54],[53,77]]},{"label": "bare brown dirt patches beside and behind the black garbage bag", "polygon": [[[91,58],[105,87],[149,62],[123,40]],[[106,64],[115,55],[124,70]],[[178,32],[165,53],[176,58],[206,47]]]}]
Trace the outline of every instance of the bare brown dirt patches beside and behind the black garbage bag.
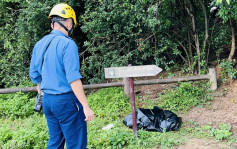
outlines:
[{"label": "bare brown dirt patches beside and behind the black garbage bag", "polygon": [[[219,79],[219,75],[217,78]],[[136,86],[135,92],[137,95],[146,95],[152,99],[156,98],[162,90],[175,86],[176,84]],[[182,117],[184,122],[192,120],[202,126],[210,123],[214,126],[221,123],[230,124],[233,135],[237,136],[237,81],[227,80],[218,86],[218,90],[212,94],[213,100],[209,105],[194,107],[178,116]],[[237,149],[237,146],[230,147],[225,142],[216,142],[215,140],[187,138],[186,144],[178,146],[177,149]]]}]

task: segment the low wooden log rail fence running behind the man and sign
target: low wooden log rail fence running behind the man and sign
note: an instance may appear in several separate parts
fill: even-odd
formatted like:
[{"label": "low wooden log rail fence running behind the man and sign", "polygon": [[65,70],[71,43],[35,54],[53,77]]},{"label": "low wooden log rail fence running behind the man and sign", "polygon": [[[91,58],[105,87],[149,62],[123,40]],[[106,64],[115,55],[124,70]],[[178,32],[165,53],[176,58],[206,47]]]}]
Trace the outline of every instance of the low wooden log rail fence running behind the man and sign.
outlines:
[{"label": "low wooden log rail fence running behind the man and sign", "polygon": [[[211,90],[217,89],[217,79],[216,79],[215,68],[210,68],[209,73],[205,75],[196,75],[196,76],[190,76],[190,77],[170,78],[170,79],[139,80],[139,81],[134,81],[134,85],[168,84],[168,83],[199,81],[199,80],[210,80]],[[83,85],[83,88],[84,89],[99,89],[99,88],[119,87],[119,86],[124,86],[125,94],[129,95],[128,78],[123,78],[123,81],[121,82]],[[16,93],[20,91],[21,92],[36,92],[37,89],[36,87],[6,88],[6,89],[0,89],[0,94]]]}]

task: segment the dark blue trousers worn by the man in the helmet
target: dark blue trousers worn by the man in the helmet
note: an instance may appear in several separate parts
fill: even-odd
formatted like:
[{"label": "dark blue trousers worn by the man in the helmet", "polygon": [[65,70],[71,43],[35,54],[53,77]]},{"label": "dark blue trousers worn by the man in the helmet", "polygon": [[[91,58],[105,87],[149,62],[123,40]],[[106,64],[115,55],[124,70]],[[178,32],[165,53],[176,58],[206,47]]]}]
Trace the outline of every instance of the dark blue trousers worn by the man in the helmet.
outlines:
[{"label": "dark blue trousers worn by the man in the helmet", "polygon": [[86,149],[87,126],[83,107],[73,92],[43,96],[43,111],[49,129],[47,149]]}]

